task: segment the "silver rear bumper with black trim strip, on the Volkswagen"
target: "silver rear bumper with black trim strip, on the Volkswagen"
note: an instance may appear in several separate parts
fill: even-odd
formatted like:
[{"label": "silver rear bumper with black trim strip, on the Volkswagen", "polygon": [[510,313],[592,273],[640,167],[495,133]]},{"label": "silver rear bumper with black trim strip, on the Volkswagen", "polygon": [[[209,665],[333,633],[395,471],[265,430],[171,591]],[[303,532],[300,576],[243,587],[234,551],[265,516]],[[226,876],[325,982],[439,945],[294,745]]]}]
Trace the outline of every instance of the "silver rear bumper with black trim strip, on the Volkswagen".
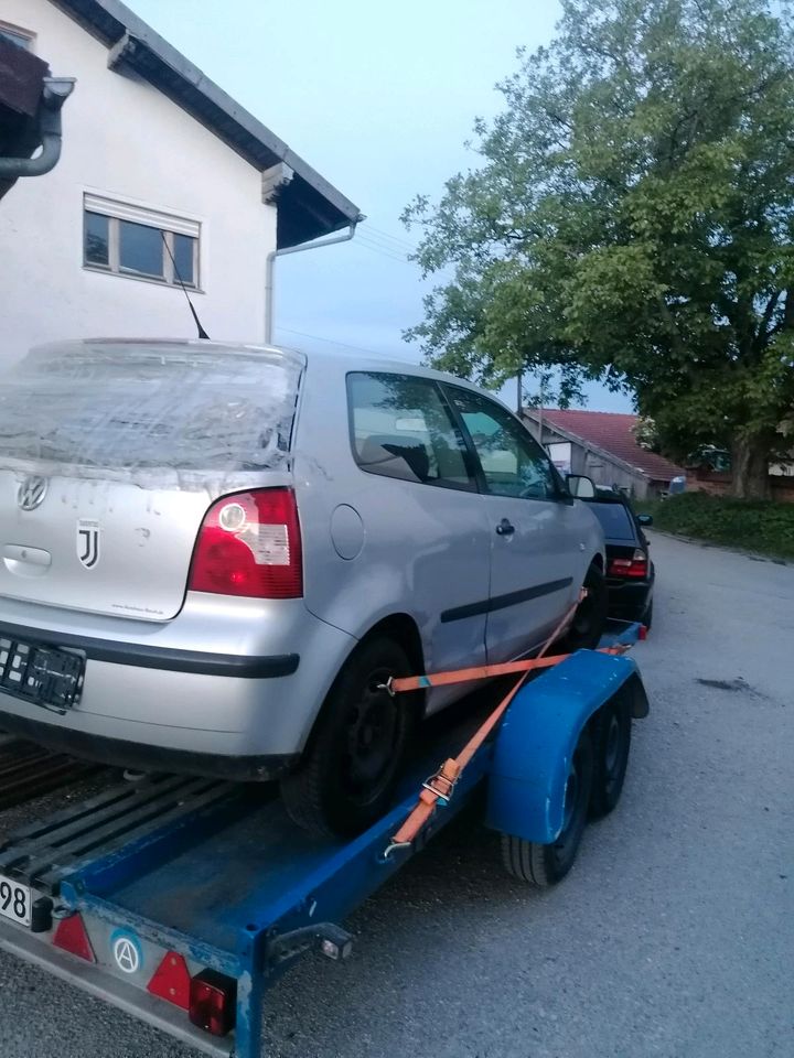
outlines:
[{"label": "silver rear bumper with black trim strip, on the Volkswagen", "polygon": [[271,758],[302,752],[356,641],[302,600],[193,597],[167,625],[1,598],[0,615],[4,638],[86,659],[63,714],[0,690],[0,727],[81,757],[229,777],[267,777]]}]

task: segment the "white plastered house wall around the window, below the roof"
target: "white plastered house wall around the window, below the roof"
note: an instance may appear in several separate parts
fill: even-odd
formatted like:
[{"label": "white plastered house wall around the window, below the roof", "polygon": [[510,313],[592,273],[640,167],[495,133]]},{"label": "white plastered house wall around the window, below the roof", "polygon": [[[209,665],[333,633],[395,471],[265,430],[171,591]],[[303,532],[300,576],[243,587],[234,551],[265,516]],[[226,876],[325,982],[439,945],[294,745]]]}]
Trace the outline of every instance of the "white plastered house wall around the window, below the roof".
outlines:
[{"label": "white plastered house wall around the window, below the roof", "polygon": [[194,304],[211,337],[261,342],[276,208],[261,176],[49,0],[0,0],[0,21],[36,34],[34,52],[77,86],[63,111],[63,155],[0,203],[0,365],[53,338],[195,337],[176,287],[83,267],[92,192],[202,226]]}]

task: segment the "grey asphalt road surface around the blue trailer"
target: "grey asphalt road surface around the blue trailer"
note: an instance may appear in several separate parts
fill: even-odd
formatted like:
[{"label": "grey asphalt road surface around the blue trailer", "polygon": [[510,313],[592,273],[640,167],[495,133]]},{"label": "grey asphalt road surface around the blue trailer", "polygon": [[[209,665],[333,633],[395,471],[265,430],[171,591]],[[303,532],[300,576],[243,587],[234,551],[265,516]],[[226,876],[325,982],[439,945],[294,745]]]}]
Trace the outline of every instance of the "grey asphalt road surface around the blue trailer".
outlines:
[{"label": "grey asphalt road surface around the blue trailer", "polygon": [[[354,916],[348,963],[282,979],[269,1055],[794,1056],[794,566],[653,553],[652,713],[569,877],[511,881],[460,819]],[[1,1058],[193,1055],[3,953],[0,1004]]]}]

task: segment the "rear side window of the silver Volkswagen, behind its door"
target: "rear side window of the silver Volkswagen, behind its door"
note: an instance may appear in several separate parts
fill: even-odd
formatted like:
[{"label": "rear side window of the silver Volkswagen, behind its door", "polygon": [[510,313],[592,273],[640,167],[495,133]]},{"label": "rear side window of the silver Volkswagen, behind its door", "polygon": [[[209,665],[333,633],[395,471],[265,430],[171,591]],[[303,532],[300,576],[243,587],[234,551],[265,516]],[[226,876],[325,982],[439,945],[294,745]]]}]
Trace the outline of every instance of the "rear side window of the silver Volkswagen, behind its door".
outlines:
[{"label": "rear side window of the silver Volkswagen, behind its door", "polygon": [[347,376],[353,455],[367,474],[476,490],[465,441],[430,378]]}]

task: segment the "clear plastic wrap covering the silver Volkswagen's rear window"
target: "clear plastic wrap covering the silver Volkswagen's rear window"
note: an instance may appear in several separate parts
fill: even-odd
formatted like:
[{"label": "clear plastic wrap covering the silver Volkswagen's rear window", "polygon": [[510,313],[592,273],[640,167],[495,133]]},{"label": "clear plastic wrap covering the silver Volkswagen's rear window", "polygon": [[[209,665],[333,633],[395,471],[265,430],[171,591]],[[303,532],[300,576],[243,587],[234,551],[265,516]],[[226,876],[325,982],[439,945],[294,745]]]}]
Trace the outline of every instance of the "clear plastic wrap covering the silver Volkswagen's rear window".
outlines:
[{"label": "clear plastic wrap covering the silver Volkswagen's rear window", "polygon": [[300,354],[67,342],[0,381],[0,468],[203,487],[288,456]]}]

